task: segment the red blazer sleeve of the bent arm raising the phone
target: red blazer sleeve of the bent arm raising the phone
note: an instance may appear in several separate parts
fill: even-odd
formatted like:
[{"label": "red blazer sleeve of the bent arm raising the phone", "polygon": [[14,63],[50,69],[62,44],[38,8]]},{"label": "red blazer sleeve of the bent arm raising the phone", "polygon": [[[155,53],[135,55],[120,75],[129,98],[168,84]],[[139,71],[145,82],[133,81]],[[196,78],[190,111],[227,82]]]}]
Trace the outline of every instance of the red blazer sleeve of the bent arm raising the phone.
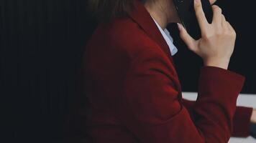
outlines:
[{"label": "red blazer sleeve of the bent arm raising the phone", "polygon": [[244,77],[203,67],[192,119],[180,103],[172,67],[167,56],[153,49],[132,61],[116,109],[120,121],[140,142],[228,142]]}]

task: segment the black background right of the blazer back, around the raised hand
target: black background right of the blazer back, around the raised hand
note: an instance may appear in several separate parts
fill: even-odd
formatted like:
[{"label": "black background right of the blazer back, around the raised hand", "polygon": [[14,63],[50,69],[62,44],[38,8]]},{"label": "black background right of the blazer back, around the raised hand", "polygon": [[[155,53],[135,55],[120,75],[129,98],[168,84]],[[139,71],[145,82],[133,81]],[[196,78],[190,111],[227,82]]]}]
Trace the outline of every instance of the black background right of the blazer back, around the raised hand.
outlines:
[{"label": "black background right of the blazer back, around the raised hand", "polygon": [[[234,29],[237,31],[237,43],[229,64],[229,69],[246,77],[242,93],[256,93],[256,49],[255,49],[255,7],[252,3],[239,0],[219,0],[219,5]],[[183,91],[196,92],[201,59],[188,51],[180,41],[178,29],[174,25],[168,27],[173,35],[178,54],[174,56]],[[196,76],[195,76],[196,75]]]}]

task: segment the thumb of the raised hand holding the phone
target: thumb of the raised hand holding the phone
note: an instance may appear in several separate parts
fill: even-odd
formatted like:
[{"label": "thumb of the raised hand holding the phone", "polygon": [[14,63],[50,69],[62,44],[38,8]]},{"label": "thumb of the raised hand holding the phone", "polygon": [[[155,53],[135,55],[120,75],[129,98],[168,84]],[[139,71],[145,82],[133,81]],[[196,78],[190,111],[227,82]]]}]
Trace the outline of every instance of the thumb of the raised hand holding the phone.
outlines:
[{"label": "thumb of the raised hand holding the phone", "polygon": [[186,29],[182,26],[182,24],[178,24],[178,29],[180,30],[180,38],[185,42],[185,44],[188,46],[188,49],[191,51],[196,51],[196,40],[193,39]]}]

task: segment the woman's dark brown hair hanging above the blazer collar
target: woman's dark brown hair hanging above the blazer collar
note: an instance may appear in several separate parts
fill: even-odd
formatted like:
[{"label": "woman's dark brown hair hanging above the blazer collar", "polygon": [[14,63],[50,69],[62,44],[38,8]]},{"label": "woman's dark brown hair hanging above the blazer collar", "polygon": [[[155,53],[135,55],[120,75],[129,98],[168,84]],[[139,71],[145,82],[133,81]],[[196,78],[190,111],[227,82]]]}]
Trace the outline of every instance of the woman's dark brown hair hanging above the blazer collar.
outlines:
[{"label": "woman's dark brown hair hanging above the blazer collar", "polygon": [[125,16],[127,12],[134,9],[135,1],[145,3],[151,0],[88,0],[88,6],[93,16],[101,21]]}]

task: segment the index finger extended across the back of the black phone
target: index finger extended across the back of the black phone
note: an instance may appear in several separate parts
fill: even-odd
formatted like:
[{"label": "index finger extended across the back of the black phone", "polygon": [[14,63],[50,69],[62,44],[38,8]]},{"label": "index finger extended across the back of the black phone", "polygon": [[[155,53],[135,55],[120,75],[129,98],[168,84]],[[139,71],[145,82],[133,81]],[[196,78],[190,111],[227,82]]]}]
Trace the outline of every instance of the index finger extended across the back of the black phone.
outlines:
[{"label": "index finger extended across the back of the black phone", "polygon": [[194,8],[196,11],[196,18],[198,20],[198,24],[201,28],[201,32],[204,33],[204,31],[206,31],[206,27],[209,25],[209,23],[204,14],[201,0],[194,0]]}]

